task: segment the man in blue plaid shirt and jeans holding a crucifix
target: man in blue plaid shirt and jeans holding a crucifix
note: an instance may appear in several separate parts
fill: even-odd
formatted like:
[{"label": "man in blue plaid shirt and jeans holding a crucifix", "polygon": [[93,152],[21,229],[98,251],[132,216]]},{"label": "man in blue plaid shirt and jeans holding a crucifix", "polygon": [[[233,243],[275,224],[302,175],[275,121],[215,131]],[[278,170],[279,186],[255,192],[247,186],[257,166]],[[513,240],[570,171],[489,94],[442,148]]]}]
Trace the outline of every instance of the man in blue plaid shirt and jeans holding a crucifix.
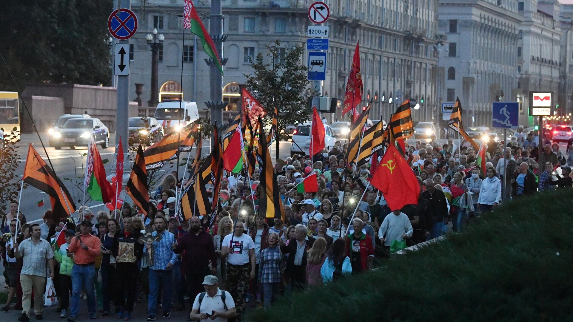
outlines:
[{"label": "man in blue plaid shirt and jeans holding a crucifix", "polygon": [[149,270],[149,297],[147,299],[147,321],[155,321],[157,315],[157,296],[159,286],[163,292],[163,317],[171,316],[171,268],[177,261],[177,255],[173,252],[175,249],[175,235],[166,230],[167,219],[163,216],[157,216],[154,219],[155,231],[152,236],[161,235],[160,241],[147,243],[143,250],[144,256],[149,256],[150,249],[153,248],[153,266]]}]

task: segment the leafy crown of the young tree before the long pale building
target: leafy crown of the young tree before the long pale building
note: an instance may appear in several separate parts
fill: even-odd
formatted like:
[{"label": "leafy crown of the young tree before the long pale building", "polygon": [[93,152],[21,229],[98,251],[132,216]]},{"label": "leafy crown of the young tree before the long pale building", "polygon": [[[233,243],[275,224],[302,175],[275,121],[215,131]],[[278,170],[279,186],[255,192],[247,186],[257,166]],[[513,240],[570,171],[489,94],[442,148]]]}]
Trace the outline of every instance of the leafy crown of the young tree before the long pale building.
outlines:
[{"label": "leafy crown of the young tree before the long pale building", "polygon": [[245,75],[246,89],[266,109],[267,115],[272,115],[275,107],[278,109],[279,128],[307,120],[311,114],[307,99],[316,95],[316,91],[309,87],[308,68],[301,60],[303,45],[281,46],[277,40],[273,46],[265,47],[268,53],[258,53],[251,62],[253,73]]}]

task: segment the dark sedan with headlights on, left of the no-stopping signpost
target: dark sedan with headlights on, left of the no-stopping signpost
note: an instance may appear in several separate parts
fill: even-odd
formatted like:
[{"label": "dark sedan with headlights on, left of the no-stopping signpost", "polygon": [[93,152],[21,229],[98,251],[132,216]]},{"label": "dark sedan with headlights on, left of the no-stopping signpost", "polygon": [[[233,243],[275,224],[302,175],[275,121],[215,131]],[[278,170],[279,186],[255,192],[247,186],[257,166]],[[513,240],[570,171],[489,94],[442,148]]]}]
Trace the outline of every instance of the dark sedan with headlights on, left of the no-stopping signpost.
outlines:
[{"label": "dark sedan with headlights on, left of the no-stopping signpost", "polygon": [[87,146],[92,139],[102,148],[109,146],[109,129],[96,118],[69,119],[57,132],[53,144],[56,150],[62,147]]}]

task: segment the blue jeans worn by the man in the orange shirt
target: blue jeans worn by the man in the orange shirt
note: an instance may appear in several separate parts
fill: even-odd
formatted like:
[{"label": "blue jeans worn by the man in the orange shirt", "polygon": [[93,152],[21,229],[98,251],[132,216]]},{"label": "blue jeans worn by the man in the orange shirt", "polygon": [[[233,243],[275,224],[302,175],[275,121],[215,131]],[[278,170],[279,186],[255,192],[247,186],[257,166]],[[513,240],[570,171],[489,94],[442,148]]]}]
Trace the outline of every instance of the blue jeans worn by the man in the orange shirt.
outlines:
[{"label": "blue jeans worn by the man in the orange shirt", "polygon": [[72,268],[72,308],[70,316],[79,315],[80,313],[80,296],[81,289],[85,289],[88,297],[88,312],[90,316],[96,315],[96,295],[94,293],[93,278],[96,276],[96,266],[73,265]]}]

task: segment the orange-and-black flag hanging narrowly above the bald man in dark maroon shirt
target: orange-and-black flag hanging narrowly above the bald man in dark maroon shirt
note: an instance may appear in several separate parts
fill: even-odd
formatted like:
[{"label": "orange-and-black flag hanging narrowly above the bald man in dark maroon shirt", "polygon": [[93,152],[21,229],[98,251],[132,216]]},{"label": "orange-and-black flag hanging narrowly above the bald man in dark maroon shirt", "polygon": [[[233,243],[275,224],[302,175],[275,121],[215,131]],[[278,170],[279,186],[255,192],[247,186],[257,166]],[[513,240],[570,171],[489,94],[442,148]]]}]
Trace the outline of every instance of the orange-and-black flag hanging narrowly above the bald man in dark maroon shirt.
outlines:
[{"label": "orange-and-black flag hanging narrowly above the bald man in dark maroon shirt", "polygon": [[177,217],[179,222],[186,221],[194,215],[207,215],[211,213],[211,206],[209,197],[207,196],[207,189],[205,188],[205,179],[201,171],[201,150],[202,138],[199,136],[197,141],[197,155],[191,165],[191,174],[189,181],[183,187],[181,199],[179,201],[179,210]]}]

